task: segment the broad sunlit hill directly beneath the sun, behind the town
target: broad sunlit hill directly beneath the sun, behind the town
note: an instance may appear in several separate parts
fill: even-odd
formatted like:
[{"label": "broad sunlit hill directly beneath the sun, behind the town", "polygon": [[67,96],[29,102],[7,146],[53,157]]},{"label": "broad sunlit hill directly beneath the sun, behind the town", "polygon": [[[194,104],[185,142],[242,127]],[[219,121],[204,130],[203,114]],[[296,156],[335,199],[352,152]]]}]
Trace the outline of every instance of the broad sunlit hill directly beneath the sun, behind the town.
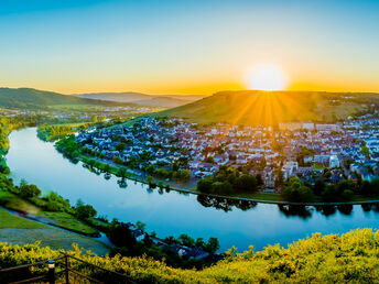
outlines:
[{"label": "broad sunlit hill directly beneath the sun, behind the town", "polygon": [[199,123],[277,125],[280,122],[334,122],[379,106],[379,94],[325,91],[221,91],[158,116]]}]

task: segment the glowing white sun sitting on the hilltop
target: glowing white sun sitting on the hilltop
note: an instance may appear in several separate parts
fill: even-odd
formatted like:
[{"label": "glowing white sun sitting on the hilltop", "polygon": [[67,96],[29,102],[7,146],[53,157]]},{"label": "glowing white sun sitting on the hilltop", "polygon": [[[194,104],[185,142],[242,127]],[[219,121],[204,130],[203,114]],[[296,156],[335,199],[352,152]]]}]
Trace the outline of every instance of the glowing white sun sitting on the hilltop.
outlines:
[{"label": "glowing white sun sitting on the hilltop", "polygon": [[273,64],[258,65],[248,74],[247,85],[255,90],[284,90],[288,86],[285,74]]}]

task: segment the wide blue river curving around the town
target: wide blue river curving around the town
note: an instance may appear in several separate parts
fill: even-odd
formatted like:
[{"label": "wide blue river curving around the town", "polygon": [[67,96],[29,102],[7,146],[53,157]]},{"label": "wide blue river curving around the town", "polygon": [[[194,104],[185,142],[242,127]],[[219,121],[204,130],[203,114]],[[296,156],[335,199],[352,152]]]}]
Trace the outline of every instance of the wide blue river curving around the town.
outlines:
[{"label": "wide blue river curving around the town", "polygon": [[[54,190],[71,200],[93,205],[110,220],[142,221],[159,237],[187,233],[193,238],[218,238],[220,250],[232,245],[239,251],[255,245],[288,243],[314,232],[343,233],[356,228],[378,228],[379,205],[342,207],[279,207],[270,204],[243,204],[238,207],[224,200],[204,199],[171,190],[165,193],[127,181],[119,186],[117,177],[106,179],[71,163],[29,128],[10,134],[7,163],[12,178],[37,185],[44,193]],[[199,203],[199,200],[202,203]],[[206,205],[206,206],[204,206]],[[243,207],[243,209],[241,209]]]}]

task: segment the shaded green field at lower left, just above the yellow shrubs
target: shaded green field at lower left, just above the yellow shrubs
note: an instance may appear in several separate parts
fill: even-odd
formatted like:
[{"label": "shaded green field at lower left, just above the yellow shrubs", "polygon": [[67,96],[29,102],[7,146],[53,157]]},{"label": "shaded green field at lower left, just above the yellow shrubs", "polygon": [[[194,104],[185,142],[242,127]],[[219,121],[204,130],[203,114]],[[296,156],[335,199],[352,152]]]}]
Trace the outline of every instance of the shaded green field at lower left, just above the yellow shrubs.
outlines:
[{"label": "shaded green field at lower left, just above the yellow shrubs", "polygon": [[107,245],[94,239],[17,217],[1,208],[0,220],[0,242],[23,245],[40,241],[43,247],[65,250],[71,250],[72,244],[77,243],[101,255],[109,252]]}]

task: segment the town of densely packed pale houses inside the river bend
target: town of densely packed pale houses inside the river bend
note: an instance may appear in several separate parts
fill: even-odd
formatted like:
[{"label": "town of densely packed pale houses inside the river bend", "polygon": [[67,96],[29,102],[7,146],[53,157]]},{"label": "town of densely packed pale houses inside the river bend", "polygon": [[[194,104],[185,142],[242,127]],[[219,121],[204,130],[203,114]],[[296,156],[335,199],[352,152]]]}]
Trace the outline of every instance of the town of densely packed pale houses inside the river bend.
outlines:
[{"label": "town of densely packed pale houses inside the river bend", "polygon": [[[325,124],[280,123],[277,128],[214,123],[199,125],[181,118],[142,117],[133,124],[77,134],[75,141],[108,160],[145,174],[150,168],[191,172],[191,179],[215,175],[221,166],[260,175],[267,190],[279,177],[297,176],[311,185],[326,176],[372,181],[378,176],[377,114]],[[150,171],[151,172],[151,171]]]}]

